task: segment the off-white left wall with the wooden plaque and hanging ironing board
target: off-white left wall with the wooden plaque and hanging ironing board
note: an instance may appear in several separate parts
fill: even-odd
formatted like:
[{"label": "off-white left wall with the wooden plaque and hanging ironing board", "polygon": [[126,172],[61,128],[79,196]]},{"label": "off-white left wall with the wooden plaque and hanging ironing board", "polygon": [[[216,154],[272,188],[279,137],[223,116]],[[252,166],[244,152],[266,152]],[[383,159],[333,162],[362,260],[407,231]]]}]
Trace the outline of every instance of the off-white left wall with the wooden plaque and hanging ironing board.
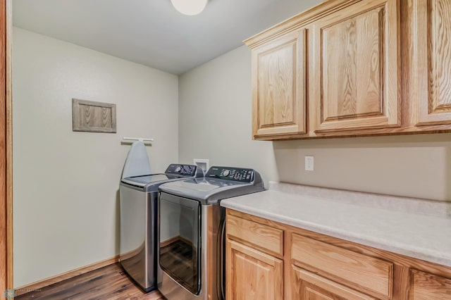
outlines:
[{"label": "off-white left wall with the wooden plaque and hanging ironing board", "polygon": [[[72,131],[71,99],[116,104],[117,133]],[[118,254],[124,136],[178,161],[178,77],[13,29],[14,285]]]}]

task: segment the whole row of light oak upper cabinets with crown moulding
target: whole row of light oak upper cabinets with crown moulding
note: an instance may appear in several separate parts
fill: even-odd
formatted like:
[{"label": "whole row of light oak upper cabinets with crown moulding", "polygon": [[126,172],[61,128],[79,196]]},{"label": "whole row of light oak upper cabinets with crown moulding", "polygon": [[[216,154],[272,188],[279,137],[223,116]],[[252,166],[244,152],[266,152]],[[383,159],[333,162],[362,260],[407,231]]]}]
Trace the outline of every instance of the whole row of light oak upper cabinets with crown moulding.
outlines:
[{"label": "whole row of light oak upper cabinets with crown moulding", "polygon": [[328,0],[251,37],[254,139],[451,132],[451,1]]}]

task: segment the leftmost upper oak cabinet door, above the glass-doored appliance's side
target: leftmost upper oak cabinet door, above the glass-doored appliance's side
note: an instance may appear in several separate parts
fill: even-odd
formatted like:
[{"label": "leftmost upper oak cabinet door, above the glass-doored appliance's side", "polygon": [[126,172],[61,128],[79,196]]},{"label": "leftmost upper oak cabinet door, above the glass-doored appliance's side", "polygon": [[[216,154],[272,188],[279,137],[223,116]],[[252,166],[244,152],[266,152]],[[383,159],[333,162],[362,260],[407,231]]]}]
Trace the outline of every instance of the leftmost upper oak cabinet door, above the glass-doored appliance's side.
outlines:
[{"label": "leftmost upper oak cabinet door, above the glass-doored appliance's side", "polygon": [[254,139],[306,132],[305,30],[252,50]]}]

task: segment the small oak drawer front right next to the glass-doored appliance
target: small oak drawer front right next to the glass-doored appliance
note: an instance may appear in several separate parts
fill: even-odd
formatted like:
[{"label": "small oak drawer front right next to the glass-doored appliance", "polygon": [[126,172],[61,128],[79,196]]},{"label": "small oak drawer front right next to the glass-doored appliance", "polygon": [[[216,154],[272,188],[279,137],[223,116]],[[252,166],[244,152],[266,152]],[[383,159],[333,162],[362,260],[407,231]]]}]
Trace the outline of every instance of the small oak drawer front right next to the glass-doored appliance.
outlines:
[{"label": "small oak drawer front right next to the glass-doored appliance", "polygon": [[237,237],[243,242],[259,246],[261,251],[283,255],[283,230],[235,215],[227,215],[226,230],[229,238]]}]

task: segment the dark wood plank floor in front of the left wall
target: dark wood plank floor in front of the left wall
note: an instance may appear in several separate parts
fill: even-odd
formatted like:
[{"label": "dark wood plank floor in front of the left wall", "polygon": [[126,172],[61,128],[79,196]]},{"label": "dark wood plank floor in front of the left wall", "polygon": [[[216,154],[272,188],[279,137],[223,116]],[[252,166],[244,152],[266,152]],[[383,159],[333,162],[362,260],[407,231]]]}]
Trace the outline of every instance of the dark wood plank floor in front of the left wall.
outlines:
[{"label": "dark wood plank floor in front of the left wall", "polygon": [[49,285],[36,292],[29,292],[14,299],[45,299],[45,300],[88,300],[88,299],[164,299],[154,290],[147,294],[137,287],[123,271],[119,263],[107,265],[104,268]]}]

